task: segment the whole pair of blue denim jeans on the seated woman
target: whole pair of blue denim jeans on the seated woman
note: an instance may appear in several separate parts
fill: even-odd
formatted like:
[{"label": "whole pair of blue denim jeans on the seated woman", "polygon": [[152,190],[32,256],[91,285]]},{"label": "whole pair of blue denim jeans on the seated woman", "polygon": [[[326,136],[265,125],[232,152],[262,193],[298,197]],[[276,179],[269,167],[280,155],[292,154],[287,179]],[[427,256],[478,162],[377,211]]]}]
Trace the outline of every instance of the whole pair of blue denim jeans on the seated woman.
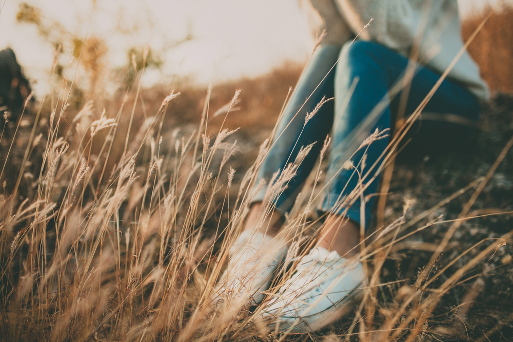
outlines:
[{"label": "whole pair of blue denim jeans on the seated woman", "polygon": [[[340,55],[340,61],[331,69]],[[389,129],[394,122],[400,106],[401,93],[393,98],[387,94],[392,86],[402,79],[407,65],[408,59],[404,56],[372,42],[356,41],[342,48],[321,46],[314,52],[284,110],[273,146],[264,160],[256,183],[259,184],[261,179],[269,182],[275,172],[283,170],[287,163],[295,159],[302,146],[315,143],[287,188],[274,199],[273,204],[279,212],[287,212],[292,207],[295,194],[301,189],[312,170],[323,140],[331,131],[332,148],[321,210],[344,214],[360,224],[360,195],[351,202],[341,201],[358,187],[359,176],[354,168],[343,169],[342,165],[350,157],[357,166],[366,154],[365,169],[362,171],[361,165],[358,167],[363,176],[372,169],[374,162],[380,159],[388,144],[387,138],[357,149],[370,133],[376,129]],[[439,78],[440,75],[427,68],[417,68],[410,83],[405,114],[415,111]],[[326,103],[304,125],[305,115],[313,110],[323,96],[334,97],[334,100]],[[373,119],[368,120],[368,114],[380,101],[384,104],[382,109],[374,110]],[[465,134],[469,127],[477,125],[479,104],[466,89],[445,79],[424,108],[423,115],[424,113],[425,116],[435,118],[434,121],[422,120],[423,131],[428,131],[430,140],[435,141],[442,135],[452,135],[457,131]],[[445,118],[447,120],[444,120]],[[358,134],[355,134],[357,131]],[[429,143],[429,140],[426,143]],[[378,166],[370,170],[363,180],[363,185],[371,180]],[[376,177],[363,191],[366,199],[366,227],[371,219],[370,208],[378,191],[378,183],[379,179]],[[264,192],[265,189],[260,189],[253,196],[252,202],[261,202]],[[341,202],[344,202],[342,206]]]}]

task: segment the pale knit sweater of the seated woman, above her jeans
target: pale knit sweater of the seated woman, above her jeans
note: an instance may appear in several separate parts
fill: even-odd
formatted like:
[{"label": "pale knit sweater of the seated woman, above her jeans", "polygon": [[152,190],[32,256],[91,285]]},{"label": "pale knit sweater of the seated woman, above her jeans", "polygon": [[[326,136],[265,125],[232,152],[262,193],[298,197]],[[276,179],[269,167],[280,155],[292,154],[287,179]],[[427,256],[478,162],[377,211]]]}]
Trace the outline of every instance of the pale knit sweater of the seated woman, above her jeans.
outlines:
[{"label": "pale knit sweater of the seated woman, above her jeans", "polygon": [[[380,43],[439,74],[464,47],[457,0],[300,1],[312,34],[320,36],[326,30],[321,44],[342,46],[360,33],[359,39]],[[488,87],[467,51],[447,77],[476,97],[489,98]]]}]

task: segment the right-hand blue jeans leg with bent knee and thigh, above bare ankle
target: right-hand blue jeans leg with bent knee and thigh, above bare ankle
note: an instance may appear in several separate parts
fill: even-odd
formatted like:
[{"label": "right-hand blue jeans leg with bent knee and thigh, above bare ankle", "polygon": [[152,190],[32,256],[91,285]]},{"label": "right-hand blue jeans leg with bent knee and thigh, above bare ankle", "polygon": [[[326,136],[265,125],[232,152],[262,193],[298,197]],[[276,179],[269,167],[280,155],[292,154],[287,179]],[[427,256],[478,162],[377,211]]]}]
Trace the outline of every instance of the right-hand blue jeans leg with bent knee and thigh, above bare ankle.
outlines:
[{"label": "right-hand blue jeans leg with bent knee and thigh, above bare ankle", "polygon": [[[345,47],[342,51],[344,50]],[[381,163],[380,156],[386,148],[388,139],[376,140],[354,152],[354,149],[348,150],[348,146],[351,145],[348,137],[351,137],[353,131],[360,127],[359,125],[367,119],[367,115],[382,99],[386,99],[386,106],[379,112],[376,119],[371,120],[371,125],[364,131],[368,134],[376,130],[382,131],[390,128],[391,113],[395,114],[394,111],[397,111],[401,94],[389,98],[388,89],[392,88],[396,82],[401,81],[407,65],[407,58],[371,42],[353,43],[337,65],[333,148],[329,159],[326,197],[322,209],[344,215],[357,225],[364,224],[366,228],[371,220],[370,208],[378,191],[379,182],[378,177],[373,180],[371,178]],[[439,78],[438,74],[429,69],[420,67],[417,70],[412,79],[407,99],[407,115],[415,111]],[[350,100],[346,102],[346,94],[350,92],[351,85],[353,85],[354,91]],[[467,90],[445,79],[423,112],[438,113],[440,117],[458,117],[460,122],[476,123],[479,118],[479,105]],[[458,120],[456,121],[458,122]],[[431,122],[429,128],[433,137],[436,138],[440,132],[450,134],[462,127],[453,123]],[[360,140],[363,141],[364,137],[360,137]],[[360,146],[360,143],[361,141],[356,146]],[[364,155],[365,163],[361,163]],[[347,164],[346,168],[343,168],[349,156],[351,156],[356,169],[347,168]],[[376,162],[377,166],[373,167]],[[359,192],[353,192],[353,199],[349,200],[351,192],[360,187],[359,174],[362,177],[367,174],[363,179],[363,186],[366,187],[363,190],[363,196]],[[360,211],[362,197],[365,200],[363,213]],[[344,198],[346,200],[343,200]],[[362,218],[364,222],[362,222]]]}]

